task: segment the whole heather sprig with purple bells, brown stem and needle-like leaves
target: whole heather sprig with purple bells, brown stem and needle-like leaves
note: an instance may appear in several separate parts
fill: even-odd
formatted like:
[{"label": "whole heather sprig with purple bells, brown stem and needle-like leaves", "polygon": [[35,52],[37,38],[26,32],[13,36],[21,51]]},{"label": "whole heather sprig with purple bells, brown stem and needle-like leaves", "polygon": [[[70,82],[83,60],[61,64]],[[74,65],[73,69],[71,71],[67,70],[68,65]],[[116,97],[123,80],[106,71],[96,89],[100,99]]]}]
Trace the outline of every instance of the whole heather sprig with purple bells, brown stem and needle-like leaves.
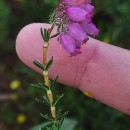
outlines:
[{"label": "whole heather sprig with purple bells, brown stem and needle-like leaves", "polygon": [[[68,114],[68,111],[61,112],[57,108],[63,95],[56,97],[53,95],[52,88],[58,80],[58,76],[52,82],[48,77],[48,71],[53,64],[53,56],[47,60],[49,40],[58,36],[57,40],[71,56],[82,53],[80,48],[89,40],[88,35],[96,36],[99,33],[97,27],[92,23],[93,11],[94,6],[91,5],[90,0],[59,0],[56,9],[50,16],[51,27],[40,29],[43,39],[43,63],[38,61],[33,63],[42,69],[44,82],[31,84],[31,86],[46,91],[46,95],[42,99],[36,98],[36,101],[47,105],[51,114],[40,113],[49,122],[39,130],[60,130],[64,118]],[[54,28],[57,28],[57,33],[52,35]]]}]

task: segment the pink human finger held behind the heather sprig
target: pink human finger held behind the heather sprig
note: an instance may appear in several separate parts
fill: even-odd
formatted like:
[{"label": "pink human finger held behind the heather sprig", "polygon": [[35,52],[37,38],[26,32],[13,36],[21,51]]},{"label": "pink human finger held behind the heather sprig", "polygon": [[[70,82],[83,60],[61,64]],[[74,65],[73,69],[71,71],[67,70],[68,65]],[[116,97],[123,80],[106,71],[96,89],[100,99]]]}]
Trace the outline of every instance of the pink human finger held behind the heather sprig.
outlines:
[{"label": "pink human finger held behind the heather sprig", "polygon": [[[41,27],[50,25],[30,24],[20,31],[16,40],[19,58],[38,73],[42,71],[32,62],[42,63]],[[90,38],[81,52],[71,57],[57,38],[51,39],[48,59],[53,55],[54,63],[49,77],[59,75],[58,82],[91,92],[98,101],[130,115],[130,51]]]}]

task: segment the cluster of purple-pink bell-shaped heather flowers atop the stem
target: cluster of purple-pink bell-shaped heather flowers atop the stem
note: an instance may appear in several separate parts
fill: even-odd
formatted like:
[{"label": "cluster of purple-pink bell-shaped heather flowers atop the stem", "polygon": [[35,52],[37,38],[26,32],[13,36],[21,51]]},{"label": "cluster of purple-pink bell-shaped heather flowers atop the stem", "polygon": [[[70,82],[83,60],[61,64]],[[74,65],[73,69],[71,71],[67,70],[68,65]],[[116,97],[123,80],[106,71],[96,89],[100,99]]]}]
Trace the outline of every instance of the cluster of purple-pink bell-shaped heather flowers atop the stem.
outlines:
[{"label": "cluster of purple-pink bell-shaped heather flowers atop the stem", "polygon": [[98,35],[99,30],[92,23],[93,11],[91,0],[59,1],[55,23],[58,25],[60,43],[71,55],[81,53],[81,45],[87,42],[88,35]]}]

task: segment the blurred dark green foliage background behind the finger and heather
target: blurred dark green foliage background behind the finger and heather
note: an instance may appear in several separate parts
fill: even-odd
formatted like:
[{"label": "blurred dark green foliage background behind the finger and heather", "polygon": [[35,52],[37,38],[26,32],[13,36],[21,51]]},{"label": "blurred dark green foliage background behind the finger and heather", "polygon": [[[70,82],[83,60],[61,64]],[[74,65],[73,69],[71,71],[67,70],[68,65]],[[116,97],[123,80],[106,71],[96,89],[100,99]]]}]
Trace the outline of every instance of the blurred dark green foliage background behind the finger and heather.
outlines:
[{"label": "blurred dark green foliage background behind the finger and heather", "polygon": [[[96,6],[94,23],[100,29],[97,39],[130,49],[130,0],[95,0],[93,3]],[[35,102],[35,97],[43,93],[29,87],[42,78],[19,60],[15,39],[25,25],[48,22],[55,4],[56,0],[0,0],[0,130],[29,130],[44,122],[39,113],[48,112],[48,108]],[[66,99],[59,107],[69,110],[68,118],[78,121],[75,130],[130,129],[129,116],[78,90],[57,84],[55,91],[65,93]]]}]

